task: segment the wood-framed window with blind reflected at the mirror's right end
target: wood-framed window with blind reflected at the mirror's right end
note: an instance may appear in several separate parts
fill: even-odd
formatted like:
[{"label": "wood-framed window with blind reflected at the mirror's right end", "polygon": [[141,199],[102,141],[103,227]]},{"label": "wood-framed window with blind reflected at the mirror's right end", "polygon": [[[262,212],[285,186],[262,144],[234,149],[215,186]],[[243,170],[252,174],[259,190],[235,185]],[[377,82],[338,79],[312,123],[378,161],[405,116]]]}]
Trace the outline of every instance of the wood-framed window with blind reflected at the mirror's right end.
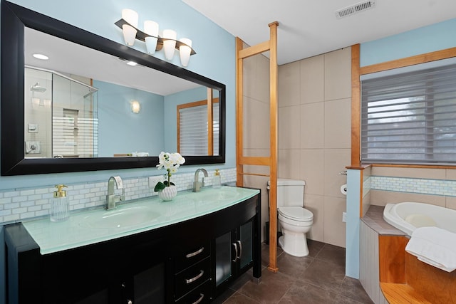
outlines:
[{"label": "wood-framed window with blind reflected at the mirror's right end", "polygon": [[180,154],[219,154],[219,100],[216,98],[212,103],[212,133],[207,123],[207,104],[207,100],[201,100],[177,106],[177,151]]}]

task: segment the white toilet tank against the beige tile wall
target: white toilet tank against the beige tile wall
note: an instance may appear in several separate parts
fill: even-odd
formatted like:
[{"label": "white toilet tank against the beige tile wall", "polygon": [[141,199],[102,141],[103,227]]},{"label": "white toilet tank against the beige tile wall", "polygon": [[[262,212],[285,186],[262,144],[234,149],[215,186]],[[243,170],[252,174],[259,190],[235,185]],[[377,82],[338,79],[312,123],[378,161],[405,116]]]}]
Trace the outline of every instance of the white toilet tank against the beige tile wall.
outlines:
[{"label": "white toilet tank against the beige tile wall", "polygon": [[[270,181],[268,181],[269,189]],[[306,182],[299,179],[277,179],[277,208],[281,206],[304,206]]]}]

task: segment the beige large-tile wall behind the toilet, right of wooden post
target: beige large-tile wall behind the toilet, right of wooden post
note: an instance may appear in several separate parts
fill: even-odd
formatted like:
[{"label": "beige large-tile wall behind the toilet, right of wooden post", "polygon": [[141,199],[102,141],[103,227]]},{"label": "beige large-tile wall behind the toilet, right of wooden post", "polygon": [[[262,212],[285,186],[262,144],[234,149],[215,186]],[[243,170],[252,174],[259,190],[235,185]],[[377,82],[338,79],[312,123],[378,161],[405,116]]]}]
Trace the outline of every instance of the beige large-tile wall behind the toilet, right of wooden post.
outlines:
[{"label": "beige large-tile wall behind the toilet, right of wooden post", "polygon": [[345,246],[351,161],[351,48],[279,67],[279,177],[304,179],[309,239]]}]

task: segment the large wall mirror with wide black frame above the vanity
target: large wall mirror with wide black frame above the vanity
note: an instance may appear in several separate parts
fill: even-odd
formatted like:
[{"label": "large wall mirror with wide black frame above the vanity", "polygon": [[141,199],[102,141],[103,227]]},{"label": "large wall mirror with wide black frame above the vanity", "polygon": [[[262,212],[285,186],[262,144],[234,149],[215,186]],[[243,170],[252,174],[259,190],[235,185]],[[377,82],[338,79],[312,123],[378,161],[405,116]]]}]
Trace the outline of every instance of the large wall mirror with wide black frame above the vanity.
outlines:
[{"label": "large wall mirror with wide black frame above the vanity", "polygon": [[161,151],[185,141],[177,108],[202,100],[216,100],[211,127],[206,121],[202,130],[211,130],[211,146],[182,154],[186,164],[222,163],[222,83],[1,3],[2,175],[154,167]]}]

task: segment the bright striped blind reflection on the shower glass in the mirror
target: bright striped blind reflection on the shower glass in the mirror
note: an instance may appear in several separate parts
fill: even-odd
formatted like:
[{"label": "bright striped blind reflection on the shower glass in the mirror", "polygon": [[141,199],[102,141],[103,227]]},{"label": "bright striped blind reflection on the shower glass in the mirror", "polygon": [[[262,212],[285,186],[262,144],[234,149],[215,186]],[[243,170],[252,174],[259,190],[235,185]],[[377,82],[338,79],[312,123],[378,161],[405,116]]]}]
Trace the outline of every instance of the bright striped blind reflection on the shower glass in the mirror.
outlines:
[{"label": "bright striped blind reflection on the shower glass in the mirror", "polygon": [[53,157],[98,155],[98,118],[78,117],[78,112],[63,109],[63,117],[53,117]]}]

